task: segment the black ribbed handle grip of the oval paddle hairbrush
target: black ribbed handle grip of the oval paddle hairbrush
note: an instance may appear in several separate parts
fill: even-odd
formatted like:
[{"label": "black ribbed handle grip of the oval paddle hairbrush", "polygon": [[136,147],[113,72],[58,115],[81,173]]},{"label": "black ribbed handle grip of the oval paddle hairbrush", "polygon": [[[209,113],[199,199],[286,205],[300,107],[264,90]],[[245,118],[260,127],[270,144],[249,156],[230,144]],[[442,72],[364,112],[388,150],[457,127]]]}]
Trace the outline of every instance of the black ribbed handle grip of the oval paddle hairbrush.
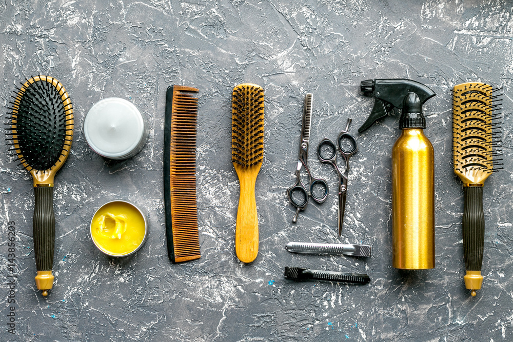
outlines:
[{"label": "black ribbed handle grip of the oval paddle hairbrush", "polygon": [[55,245],[53,187],[34,187],[34,252],[37,271],[51,271]]}]

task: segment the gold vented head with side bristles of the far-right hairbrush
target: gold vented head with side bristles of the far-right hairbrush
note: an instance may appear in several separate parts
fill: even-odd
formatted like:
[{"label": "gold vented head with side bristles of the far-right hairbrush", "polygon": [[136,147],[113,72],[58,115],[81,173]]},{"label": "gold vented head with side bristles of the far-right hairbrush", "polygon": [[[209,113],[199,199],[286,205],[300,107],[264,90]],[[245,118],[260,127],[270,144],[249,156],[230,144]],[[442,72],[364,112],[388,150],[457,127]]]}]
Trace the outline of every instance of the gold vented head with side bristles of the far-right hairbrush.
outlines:
[{"label": "gold vented head with side bristles of the far-right hairbrush", "polygon": [[452,152],[454,172],[464,184],[484,184],[498,171],[502,155],[501,99],[492,86],[468,82],[452,93]]}]

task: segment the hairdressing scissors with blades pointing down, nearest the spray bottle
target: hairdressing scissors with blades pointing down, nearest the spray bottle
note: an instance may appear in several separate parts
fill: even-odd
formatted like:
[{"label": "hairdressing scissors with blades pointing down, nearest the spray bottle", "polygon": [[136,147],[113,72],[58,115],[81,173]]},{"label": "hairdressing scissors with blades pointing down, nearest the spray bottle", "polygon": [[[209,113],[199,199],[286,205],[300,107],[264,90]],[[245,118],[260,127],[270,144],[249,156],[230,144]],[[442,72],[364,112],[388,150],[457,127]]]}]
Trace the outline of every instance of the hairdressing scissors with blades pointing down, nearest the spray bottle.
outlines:
[{"label": "hairdressing scissors with blades pointing down, nearest the spray bottle", "polygon": [[[344,212],[346,208],[347,197],[347,176],[349,175],[349,158],[358,151],[356,138],[349,131],[352,119],[347,119],[346,129],[341,131],[337,138],[337,145],[330,139],[324,138],[317,147],[317,156],[322,163],[331,164],[335,167],[339,175],[339,236],[342,235],[342,224],[344,222]],[[342,154],[346,168],[344,171],[337,165],[337,150]]]}]

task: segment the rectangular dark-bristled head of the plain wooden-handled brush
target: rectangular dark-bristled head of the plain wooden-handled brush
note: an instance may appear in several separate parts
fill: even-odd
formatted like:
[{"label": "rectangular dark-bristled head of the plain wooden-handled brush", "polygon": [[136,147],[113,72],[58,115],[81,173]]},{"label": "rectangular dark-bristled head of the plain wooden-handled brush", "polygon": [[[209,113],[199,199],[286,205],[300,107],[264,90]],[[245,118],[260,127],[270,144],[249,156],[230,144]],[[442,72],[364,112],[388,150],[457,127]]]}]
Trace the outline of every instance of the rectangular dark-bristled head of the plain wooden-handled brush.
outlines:
[{"label": "rectangular dark-bristled head of the plain wooden-handled brush", "polygon": [[233,88],[232,162],[250,167],[264,158],[264,89],[242,84]]}]

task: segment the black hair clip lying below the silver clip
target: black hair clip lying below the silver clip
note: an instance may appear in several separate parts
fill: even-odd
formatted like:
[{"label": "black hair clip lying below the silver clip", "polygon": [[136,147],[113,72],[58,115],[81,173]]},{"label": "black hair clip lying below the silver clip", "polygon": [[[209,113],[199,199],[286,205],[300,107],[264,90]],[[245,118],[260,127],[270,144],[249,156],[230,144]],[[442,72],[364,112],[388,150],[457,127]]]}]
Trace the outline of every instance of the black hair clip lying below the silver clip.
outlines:
[{"label": "black hair clip lying below the silver clip", "polygon": [[301,267],[285,267],[285,278],[295,281],[325,280],[365,285],[370,282],[367,274],[311,270]]}]

